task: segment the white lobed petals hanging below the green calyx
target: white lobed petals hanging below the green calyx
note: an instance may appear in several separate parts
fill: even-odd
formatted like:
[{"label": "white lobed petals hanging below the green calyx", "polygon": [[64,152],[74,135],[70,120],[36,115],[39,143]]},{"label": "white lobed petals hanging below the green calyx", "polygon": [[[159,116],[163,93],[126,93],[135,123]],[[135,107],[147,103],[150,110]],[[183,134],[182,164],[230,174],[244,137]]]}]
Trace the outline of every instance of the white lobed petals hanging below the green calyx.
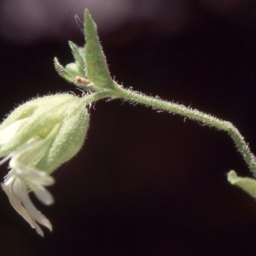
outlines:
[{"label": "white lobed petals hanging below the green calyx", "polygon": [[53,184],[54,178],[47,175],[46,172],[22,166],[15,156],[10,160],[9,166],[12,170],[4,177],[2,188],[15,210],[26,219],[33,229],[37,230],[40,236],[44,236],[44,232],[38,224],[44,225],[50,231],[52,231],[52,225],[49,219],[34,207],[28,195],[28,188],[32,189],[40,201],[49,206],[54,203],[54,199],[44,186]]}]

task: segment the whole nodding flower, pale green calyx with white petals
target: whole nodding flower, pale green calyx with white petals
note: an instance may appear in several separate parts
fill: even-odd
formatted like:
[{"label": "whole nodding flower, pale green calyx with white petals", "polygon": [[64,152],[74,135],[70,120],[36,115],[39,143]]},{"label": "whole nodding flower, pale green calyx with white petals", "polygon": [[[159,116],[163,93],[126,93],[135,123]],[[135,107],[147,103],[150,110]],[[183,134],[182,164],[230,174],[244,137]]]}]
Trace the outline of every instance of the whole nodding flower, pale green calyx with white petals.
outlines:
[{"label": "whole nodding flower, pale green calyx with white petals", "polygon": [[0,125],[0,157],[4,157],[0,165],[9,160],[11,169],[2,188],[40,236],[44,232],[39,224],[50,231],[52,225],[33,205],[29,192],[47,206],[54,203],[44,188],[55,182],[49,174],[79,151],[88,124],[89,115],[79,98],[59,94],[26,102]]}]

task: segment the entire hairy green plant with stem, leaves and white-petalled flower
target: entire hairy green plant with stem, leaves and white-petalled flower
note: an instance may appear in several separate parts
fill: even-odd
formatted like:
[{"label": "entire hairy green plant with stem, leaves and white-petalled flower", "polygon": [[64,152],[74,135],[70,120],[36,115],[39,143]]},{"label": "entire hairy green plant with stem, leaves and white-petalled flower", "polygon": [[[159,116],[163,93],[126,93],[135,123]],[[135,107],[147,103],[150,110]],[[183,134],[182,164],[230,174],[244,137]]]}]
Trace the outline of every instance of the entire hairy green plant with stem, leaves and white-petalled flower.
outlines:
[{"label": "entire hairy green plant with stem, leaves and white-petalled flower", "polygon": [[[197,109],[126,90],[110,76],[96,24],[87,9],[84,12],[84,34],[84,47],[69,42],[74,62],[63,67],[55,58],[55,69],[63,79],[87,93],[80,98],[64,93],[34,99],[16,108],[0,125],[0,157],[4,157],[0,165],[10,159],[9,166],[12,169],[4,179],[3,190],[15,210],[32,228],[36,228],[39,235],[44,236],[44,232],[38,224],[43,224],[49,230],[52,226],[33,206],[28,193],[33,191],[46,205],[53,203],[52,195],[44,188],[54,183],[53,177],[49,175],[82,147],[89,125],[89,115],[84,106],[90,106],[92,102],[103,98],[121,99],[156,110],[178,113],[201,124],[227,131],[250,171],[256,176],[255,156],[234,125]],[[230,171],[228,180],[256,197],[255,179],[238,177],[235,171]]]}]

